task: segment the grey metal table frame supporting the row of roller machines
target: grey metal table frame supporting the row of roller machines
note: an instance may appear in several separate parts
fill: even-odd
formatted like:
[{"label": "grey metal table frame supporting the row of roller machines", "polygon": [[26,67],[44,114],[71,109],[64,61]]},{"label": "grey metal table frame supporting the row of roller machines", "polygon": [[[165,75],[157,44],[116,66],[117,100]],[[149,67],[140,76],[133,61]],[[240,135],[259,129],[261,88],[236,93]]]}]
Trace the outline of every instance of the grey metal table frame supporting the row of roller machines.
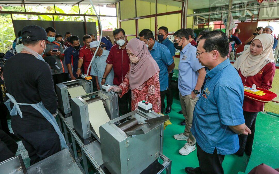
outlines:
[{"label": "grey metal table frame supporting the row of roller machines", "polygon": [[[72,116],[65,118],[59,110],[57,114],[57,121],[61,132],[64,134],[66,143],[69,146],[69,151],[81,171],[85,174],[89,173],[87,165],[87,161],[89,161],[97,173],[106,174],[106,171],[101,167],[103,161],[99,141],[96,140],[90,144],[84,145],[78,134],[73,129]],[[68,136],[68,133],[70,133],[70,136]],[[69,140],[71,140],[72,143],[69,143]],[[81,149],[81,157],[78,156],[77,148]],[[164,167],[157,174],[162,173],[164,170],[166,170],[166,174],[170,174],[172,161],[163,154],[160,154],[160,158],[158,158],[158,160],[159,159],[163,160],[162,165]],[[84,167],[82,166],[81,161],[83,162]]]}]

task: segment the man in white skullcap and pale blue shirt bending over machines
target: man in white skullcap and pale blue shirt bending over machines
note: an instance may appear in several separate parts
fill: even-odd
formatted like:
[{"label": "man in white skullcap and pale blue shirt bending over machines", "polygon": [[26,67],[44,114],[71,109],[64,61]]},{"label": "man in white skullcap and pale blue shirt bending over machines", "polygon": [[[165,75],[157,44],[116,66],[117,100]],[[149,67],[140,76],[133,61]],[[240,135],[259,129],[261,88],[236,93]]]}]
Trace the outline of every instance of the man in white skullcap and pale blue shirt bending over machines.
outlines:
[{"label": "man in white skullcap and pale blue shirt bending over machines", "polygon": [[[92,54],[94,55],[95,51],[97,50],[99,42],[93,41],[90,42],[90,49],[92,51]],[[107,57],[109,56],[109,51],[104,50],[101,46],[99,46],[98,51],[96,53],[96,57],[94,58],[92,65],[91,65],[91,72],[90,75],[94,75],[96,79],[97,84],[97,90],[101,90],[101,82],[102,77],[105,72],[105,67],[107,66]],[[110,71],[109,75],[105,79],[105,84],[113,85],[113,78],[114,78],[114,72],[113,70]]]}]

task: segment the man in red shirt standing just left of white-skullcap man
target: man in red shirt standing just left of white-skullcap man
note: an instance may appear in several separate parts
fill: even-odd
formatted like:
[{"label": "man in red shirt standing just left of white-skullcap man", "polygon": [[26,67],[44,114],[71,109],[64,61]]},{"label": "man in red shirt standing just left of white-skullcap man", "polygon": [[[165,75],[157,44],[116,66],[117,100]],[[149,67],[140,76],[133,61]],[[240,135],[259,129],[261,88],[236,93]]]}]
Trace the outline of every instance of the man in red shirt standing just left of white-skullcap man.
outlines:
[{"label": "man in red shirt standing just left of white-skullcap man", "polygon": [[81,66],[83,65],[83,69],[85,74],[90,73],[91,67],[89,67],[89,73],[87,73],[88,66],[92,60],[93,54],[90,50],[89,43],[92,42],[92,38],[90,35],[84,35],[83,38],[83,44],[84,46],[80,48],[80,55],[79,55],[79,60],[78,60],[78,71],[76,72],[76,75],[80,77],[82,74],[81,72]]}]

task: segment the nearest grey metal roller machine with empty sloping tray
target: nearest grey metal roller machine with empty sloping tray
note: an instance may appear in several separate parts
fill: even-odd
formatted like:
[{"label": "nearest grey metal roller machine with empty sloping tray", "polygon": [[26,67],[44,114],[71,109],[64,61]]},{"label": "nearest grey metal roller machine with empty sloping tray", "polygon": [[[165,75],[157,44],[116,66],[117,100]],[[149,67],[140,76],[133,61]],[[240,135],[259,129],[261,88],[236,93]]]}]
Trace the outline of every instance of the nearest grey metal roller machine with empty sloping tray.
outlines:
[{"label": "nearest grey metal roller machine with empty sloping tray", "polygon": [[[128,117],[127,124],[116,125]],[[158,160],[162,155],[163,122],[168,119],[168,115],[137,109],[100,126],[106,168],[113,174],[141,173]]]}]

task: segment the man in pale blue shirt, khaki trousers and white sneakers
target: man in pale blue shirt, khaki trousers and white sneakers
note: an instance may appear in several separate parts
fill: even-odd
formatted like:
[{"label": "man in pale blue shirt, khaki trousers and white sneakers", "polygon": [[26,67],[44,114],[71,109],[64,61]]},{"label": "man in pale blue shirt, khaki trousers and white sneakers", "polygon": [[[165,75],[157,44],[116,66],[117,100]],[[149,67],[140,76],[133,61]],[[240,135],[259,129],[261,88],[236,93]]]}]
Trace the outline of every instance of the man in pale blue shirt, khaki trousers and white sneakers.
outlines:
[{"label": "man in pale blue shirt, khaki trousers and white sneakers", "polygon": [[196,149],[196,139],[190,129],[192,127],[194,107],[198,100],[206,71],[196,58],[197,48],[191,45],[189,33],[186,29],[180,29],[174,33],[174,47],[181,50],[178,66],[178,89],[182,114],[185,118],[184,132],[174,135],[174,138],[187,141],[179,150],[179,153],[188,155]]}]

